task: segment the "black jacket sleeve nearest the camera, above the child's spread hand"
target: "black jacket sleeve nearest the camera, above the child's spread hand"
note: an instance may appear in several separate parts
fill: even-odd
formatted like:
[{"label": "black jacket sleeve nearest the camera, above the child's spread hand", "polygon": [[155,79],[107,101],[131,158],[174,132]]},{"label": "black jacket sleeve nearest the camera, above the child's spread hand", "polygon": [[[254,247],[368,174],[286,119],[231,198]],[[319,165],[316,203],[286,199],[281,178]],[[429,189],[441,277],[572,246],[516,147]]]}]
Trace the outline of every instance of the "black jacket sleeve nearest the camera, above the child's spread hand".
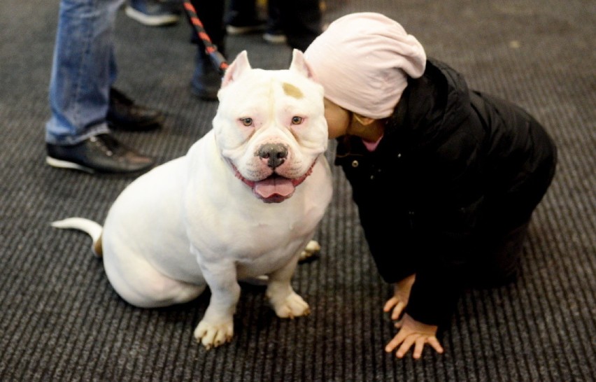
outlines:
[{"label": "black jacket sleeve nearest the camera, above the child's spread hand", "polygon": [[421,171],[415,179],[422,191],[413,196],[411,255],[418,264],[406,313],[428,325],[442,325],[453,314],[464,267],[475,255],[485,198],[483,132],[473,122],[473,116],[463,120],[441,145],[417,158]]}]

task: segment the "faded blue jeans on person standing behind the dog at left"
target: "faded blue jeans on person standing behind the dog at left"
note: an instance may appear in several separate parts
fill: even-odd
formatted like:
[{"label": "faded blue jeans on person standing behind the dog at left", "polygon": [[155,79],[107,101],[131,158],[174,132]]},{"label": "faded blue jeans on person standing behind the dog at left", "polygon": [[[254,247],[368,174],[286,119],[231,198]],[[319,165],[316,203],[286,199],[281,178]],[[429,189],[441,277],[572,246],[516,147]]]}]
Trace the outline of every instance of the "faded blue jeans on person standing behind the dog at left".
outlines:
[{"label": "faded blue jeans on person standing behind the dog at left", "polygon": [[73,145],[110,131],[106,114],[117,75],[114,25],[123,2],[60,1],[46,142]]}]

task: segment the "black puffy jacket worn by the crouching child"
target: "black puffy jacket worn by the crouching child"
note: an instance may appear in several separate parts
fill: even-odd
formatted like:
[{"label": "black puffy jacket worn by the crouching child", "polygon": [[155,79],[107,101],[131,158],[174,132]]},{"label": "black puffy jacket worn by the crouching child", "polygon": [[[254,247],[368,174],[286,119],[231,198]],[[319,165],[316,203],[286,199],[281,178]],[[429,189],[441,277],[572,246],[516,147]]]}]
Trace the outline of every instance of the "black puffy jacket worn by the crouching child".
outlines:
[{"label": "black puffy jacket worn by the crouching child", "polygon": [[453,311],[462,265],[482,255],[475,238],[529,220],[555,162],[534,118],[433,59],[409,78],[376,150],[343,136],[335,159],[378,271],[390,283],[416,273],[406,312],[432,325]]}]

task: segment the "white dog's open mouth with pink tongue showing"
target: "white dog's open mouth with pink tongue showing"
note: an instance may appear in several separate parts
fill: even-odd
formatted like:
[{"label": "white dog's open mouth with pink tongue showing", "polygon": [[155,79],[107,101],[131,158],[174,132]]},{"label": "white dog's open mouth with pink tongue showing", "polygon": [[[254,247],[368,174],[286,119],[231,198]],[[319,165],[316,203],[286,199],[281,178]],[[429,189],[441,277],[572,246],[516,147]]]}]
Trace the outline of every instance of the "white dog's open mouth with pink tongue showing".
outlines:
[{"label": "white dog's open mouth with pink tongue showing", "polygon": [[281,203],[285,199],[292,197],[296,188],[311,175],[315,163],[316,161],[311,164],[311,168],[306,171],[306,174],[299,178],[285,178],[285,176],[274,172],[261,181],[249,181],[240,174],[240,171],[236,169],[234,164],[230,164],[232,164],[232,168],[236,173],[236,178],[239,178],[244,184],[248,185],[256,197],[265,203]]}]

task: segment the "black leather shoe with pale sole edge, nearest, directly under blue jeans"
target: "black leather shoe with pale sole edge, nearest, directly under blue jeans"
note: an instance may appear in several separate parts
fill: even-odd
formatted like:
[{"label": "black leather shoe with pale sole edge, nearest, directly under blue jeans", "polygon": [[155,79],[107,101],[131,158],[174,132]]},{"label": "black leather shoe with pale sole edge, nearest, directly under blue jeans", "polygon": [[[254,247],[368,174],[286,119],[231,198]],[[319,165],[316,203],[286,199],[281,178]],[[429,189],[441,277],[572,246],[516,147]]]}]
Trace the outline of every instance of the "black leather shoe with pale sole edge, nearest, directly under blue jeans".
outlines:
[{"label": "black leather shoe with pale sole edge, nearest, directly under blue jeans", "polygon": [[52,167],[75,169],[91,174],[127,174],[146,171],[153,166],[150,157],[116,141],[109,134],[99,134],[72,146],[46,144],[45,162]]}]

